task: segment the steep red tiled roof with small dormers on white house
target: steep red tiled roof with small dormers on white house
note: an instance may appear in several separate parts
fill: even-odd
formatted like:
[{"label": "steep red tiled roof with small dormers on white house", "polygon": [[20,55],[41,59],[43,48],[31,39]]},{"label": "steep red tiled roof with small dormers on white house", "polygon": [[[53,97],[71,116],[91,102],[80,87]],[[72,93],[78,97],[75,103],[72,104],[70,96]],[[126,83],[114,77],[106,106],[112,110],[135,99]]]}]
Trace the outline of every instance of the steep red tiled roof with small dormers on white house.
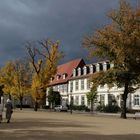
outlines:
[{"label": "steep red tiled roof with small dormers on white house", "polygon": [[[77,67],[83,67],[84,65],[85,62],[83,59],[76,59],[76,60],[69,61],[65,64],[59,65],[57,67],[57,73],[53,81],[50,82],[49,86],[66,83],[72,77],[73,69]],[[65,79],[63,79],[63,74],[66,74]],[[60,75],[60,78],[58,80],[56,79],[57,75]]]}]

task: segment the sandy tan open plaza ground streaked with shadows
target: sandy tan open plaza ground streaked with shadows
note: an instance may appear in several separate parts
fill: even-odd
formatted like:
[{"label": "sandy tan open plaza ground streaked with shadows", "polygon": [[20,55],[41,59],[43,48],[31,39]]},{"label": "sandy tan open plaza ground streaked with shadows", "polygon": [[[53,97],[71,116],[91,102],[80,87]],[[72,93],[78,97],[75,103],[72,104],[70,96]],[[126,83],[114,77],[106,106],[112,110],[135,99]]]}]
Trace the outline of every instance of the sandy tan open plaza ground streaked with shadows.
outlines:
[{"label": "sandy tan open plaza ground streaked with shadows", "polygon": [[140,119],[16,110],[0,124],[0,140],[139,140]]}]

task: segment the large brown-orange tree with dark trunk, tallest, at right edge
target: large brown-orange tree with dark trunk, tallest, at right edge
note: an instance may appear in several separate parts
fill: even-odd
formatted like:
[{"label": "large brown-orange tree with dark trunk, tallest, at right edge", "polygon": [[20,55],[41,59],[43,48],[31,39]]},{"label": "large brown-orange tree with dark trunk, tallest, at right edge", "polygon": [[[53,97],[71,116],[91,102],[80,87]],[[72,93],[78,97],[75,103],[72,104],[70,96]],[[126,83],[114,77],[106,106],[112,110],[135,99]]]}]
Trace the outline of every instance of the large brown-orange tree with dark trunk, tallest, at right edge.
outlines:
[{"label": "large brown-orange tree with dark trunk, tallest, at right edge", "polygon": [[108,59],[114,68],[93,76],[98,84],[123,87],[121,118],[126,118],[126,100],[140,84],[140,7],[132,8],[122,0],[118,9],[108,14],[112,23],[85,37],[84,46],[91,56]]}]

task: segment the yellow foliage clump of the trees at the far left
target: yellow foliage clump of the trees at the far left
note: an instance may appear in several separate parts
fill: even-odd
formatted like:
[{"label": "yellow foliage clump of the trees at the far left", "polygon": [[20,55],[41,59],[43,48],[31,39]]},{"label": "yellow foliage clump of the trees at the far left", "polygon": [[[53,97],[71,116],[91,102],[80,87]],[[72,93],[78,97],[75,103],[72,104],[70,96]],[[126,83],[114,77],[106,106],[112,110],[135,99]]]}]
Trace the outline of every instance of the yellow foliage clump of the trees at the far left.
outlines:
[{"label": "yellow foliage clump of the trees at the far left", "polygon": [[17,99],[30,92],[28,78],[28,70],[20,62],[8,62],[1,69],[0,82],[4,85],[4,93]]}]

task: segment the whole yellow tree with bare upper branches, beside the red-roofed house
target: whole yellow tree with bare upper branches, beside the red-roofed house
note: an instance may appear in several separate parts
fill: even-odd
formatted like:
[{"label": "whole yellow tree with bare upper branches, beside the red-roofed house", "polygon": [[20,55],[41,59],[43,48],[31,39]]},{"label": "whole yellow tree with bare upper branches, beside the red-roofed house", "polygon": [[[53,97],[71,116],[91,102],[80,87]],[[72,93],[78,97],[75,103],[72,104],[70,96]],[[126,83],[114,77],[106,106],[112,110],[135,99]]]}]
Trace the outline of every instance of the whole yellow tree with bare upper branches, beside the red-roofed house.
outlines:
[{"label": "whole yellow tree with bare upper branches, beside the red-roofed house", "polygon": [[26,46],[34,70],[31,89],[35,101],[35,111],[37,111],[38,104],[46,94],[50,78],[56,74],[57,63],[62,57],[58,41],[44,40],[38,45],[40,45],[38,48],[31,43]]}]

